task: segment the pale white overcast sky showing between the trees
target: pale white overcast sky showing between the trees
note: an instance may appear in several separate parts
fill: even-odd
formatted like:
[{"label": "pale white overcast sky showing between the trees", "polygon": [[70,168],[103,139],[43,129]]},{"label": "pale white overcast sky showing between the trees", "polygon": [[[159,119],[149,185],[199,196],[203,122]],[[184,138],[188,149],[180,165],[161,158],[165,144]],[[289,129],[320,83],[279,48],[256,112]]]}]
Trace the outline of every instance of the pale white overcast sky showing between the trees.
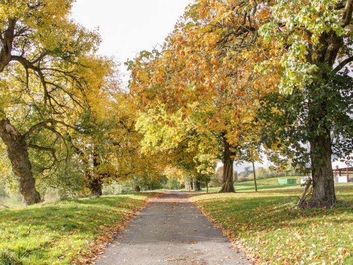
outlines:
[{"label": "pale white overcast sky showing between the trees", "polygon": [[[99,54],[114,56],[121,62],[122,79],[129,80],[124,62],[136,57],[141,50],[151,50],[173,30],[193,0],[77,0],[72,15],[88,29],[99,28],[102,43]],[[342,163],[333,166],[344,167]],[[250,164],[237,165],[238,172]],[[256,164],[267,168],[269,163]]]}]

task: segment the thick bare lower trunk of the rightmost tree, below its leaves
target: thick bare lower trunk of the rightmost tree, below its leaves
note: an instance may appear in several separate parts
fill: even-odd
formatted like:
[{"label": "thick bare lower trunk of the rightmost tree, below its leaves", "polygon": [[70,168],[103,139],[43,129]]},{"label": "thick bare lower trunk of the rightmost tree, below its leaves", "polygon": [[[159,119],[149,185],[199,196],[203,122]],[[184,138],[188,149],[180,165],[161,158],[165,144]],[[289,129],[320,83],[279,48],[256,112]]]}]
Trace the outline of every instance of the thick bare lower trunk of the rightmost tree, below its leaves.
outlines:
[{"label": "thick bare lower trunk of the rightmost tree, below its leaves", "polygon": [[331,163],[331,138],[320,135],[310,143],[313,196],[310,207],[331,207],[336,202],[335,186]]}]

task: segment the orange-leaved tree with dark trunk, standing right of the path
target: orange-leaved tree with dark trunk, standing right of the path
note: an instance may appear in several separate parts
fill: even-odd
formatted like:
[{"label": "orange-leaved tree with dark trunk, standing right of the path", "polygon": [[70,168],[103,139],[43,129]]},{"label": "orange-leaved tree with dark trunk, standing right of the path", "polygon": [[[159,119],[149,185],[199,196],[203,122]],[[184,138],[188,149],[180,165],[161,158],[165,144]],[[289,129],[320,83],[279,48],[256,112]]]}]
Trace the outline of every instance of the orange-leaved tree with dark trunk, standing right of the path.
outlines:
[{"label": "orange-leaved tree with dark trunk, standing right of the path", "polygon": [[262,91],[253,68],[262,54],[255,44],[268,9],[256,1],[196,1],[162,50],[141,52],[131,66],[131,90],[143,106],[162,103],[168,113],[183,109],[217,138],[222,151],[216,155],[224,164],[221,192],[234,192],[234,160],[259,158],[260,149],[252,148],[250,157],[244,143],[252,145],[256,136],[252,121]]}]

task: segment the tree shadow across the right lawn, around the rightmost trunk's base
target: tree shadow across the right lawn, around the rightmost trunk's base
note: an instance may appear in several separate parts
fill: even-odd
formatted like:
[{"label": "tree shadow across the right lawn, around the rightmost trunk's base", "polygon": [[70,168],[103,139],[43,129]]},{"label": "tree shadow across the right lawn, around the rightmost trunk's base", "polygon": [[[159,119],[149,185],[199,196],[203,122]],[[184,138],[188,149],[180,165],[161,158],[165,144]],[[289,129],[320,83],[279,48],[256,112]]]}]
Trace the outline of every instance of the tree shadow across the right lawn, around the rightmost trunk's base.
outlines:
[{"label": "tree shadow across the right lawn, around the rightmost trunk's base", "polygon": [[[259,192],[239,192],[222,196],[218,193],[192,194],[196,204],[201,205],[212,218],[223,227],[231,227],[236,236],[251,228],[252,231],[274,231],[283,227],[310,227],[312,222],[330,220],[333,225],[352,221],[353,194],[352,189],[338,188],[338,199],[344,199],[344,205],[336,205],[331,209],[289,209],[283,202],[286,197],[300,195],[302,189],[271,190]],[[342,191],[343,194],[340,194]],[[244,196],[243,196],[244,194]],[[256,195],[260,195],[256,197]],[[198,196],[200,200],[197,199]],[[215,197],[214,197],[215,196]],[[337,217],[349,212],[347,217]]]}]

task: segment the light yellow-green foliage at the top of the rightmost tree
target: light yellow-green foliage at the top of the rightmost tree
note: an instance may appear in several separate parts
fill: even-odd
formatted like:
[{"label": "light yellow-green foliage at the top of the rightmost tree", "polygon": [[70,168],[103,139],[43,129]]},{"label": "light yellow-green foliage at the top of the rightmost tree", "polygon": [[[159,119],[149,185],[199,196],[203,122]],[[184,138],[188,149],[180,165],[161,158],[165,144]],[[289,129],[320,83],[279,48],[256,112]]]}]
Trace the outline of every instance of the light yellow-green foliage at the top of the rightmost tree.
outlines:
[{"label": "light yellow-green foliage at the top of the rightmost tree", "polygon": [[279,48],[288,47],[277,58],[283,71],[280,91],[291,93],[293,89],[310,85],[319,76],[315,71],[322,65],[308,59],[309,45],[319,44],[330,31],[339,37],[349,35],[340,22],[341,11],[334,8],[339,3],[338,0],[276,2],[272,21],[263,24],[259,34],[265,43],[276,41]]}]

